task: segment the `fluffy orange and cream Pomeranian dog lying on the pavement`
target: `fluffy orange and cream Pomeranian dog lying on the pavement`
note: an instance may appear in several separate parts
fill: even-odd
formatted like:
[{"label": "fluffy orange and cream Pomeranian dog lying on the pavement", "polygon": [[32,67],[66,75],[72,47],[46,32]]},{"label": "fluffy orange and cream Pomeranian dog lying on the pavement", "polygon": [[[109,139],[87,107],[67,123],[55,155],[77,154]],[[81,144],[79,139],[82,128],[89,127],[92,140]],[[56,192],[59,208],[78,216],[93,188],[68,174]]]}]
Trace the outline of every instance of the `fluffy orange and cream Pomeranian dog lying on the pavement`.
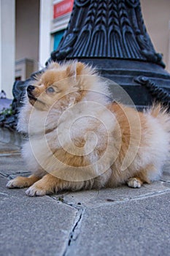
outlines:
[{"label": "fluffy orange and cream Pomeranian dog lying on the pavement", "polygon": [[141,113],[112,102],[108,87],[81,62],[49,64],[28,86],[19,115],[33,174],[7,187],[35,196],[158,180],[169,154],[169,114],[160,105]]}]

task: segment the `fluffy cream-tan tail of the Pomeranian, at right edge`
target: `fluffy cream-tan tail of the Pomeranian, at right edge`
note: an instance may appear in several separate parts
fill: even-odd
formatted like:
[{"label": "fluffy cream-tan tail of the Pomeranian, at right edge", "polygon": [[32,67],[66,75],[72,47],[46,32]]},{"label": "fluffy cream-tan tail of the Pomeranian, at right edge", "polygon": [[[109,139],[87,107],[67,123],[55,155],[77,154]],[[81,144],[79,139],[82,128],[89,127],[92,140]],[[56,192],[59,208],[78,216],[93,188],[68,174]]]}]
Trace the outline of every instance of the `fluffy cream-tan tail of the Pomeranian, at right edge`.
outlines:
[{"label": "fluffy cream-tan tail of the Pomeranian, at right edge", "polygon": [[163,107],[161,104],[153,105],[152,108],[150,108],[149,113],[154,118],[157,118],[166,132],[170,132],[170,113],[168,108]]}]

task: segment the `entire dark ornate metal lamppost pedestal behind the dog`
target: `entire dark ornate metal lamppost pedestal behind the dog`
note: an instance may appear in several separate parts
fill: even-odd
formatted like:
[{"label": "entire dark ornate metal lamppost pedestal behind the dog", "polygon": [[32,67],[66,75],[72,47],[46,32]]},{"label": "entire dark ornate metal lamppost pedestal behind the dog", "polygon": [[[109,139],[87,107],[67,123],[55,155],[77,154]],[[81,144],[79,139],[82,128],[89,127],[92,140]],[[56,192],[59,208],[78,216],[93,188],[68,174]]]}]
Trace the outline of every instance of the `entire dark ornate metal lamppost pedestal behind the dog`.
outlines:
[{"label": "entire dark ornate metal lamppost pedestal behind the dog", "polygon": [[[139,108],[155,100],[169,105],[170,75],[147,34],[139,0],[74,0],[69,26],[50,57],[65,59],[93,64],[122,86]],[[15,117],[27,83],[15,83]]]}]

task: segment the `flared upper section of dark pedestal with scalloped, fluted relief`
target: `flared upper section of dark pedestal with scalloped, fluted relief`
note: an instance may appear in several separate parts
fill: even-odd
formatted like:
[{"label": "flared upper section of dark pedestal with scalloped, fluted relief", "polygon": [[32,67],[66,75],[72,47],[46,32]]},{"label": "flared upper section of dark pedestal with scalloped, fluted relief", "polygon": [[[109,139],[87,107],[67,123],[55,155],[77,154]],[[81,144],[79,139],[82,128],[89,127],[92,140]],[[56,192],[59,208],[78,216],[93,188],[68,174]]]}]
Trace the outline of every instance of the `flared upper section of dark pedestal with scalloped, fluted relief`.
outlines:
[{"label": "flared upper section of dark pedestal with scalloped, fluted relief", "polygon": [[75,0],[72,18],[51,59],[109,58],[150,61],[165,67],[155,52],[139,0]]}]

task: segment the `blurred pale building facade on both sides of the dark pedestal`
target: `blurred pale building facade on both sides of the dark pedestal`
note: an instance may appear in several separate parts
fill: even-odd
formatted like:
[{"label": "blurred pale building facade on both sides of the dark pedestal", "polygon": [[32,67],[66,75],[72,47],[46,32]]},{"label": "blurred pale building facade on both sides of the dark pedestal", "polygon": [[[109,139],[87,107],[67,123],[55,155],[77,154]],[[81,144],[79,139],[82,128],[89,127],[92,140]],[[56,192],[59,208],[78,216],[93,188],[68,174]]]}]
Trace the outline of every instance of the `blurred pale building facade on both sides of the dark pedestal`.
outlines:
[{"label": "blurred pale building facade on both sides of the dark pedestal", "polygon": [[[0,91],[12,98],[15,80],[45,67],[58,47],[74,0],[0,1]],[[170,72],[170,1],[141,0],[147,31]]]}]

